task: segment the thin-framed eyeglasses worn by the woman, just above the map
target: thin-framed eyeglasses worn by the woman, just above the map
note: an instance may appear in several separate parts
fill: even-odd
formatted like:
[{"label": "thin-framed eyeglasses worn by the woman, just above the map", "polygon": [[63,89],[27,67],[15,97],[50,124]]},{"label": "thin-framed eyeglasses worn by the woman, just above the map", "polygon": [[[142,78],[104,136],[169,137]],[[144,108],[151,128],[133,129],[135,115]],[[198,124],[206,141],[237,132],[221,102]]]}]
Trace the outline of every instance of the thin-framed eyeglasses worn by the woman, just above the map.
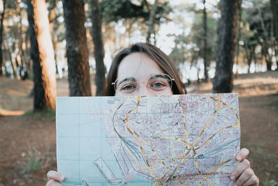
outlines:
[{"label": "thin-framed eyeglasses worn by the woman, just above the map", "polygon": [[152,95],[167,95],[171,91],[172,81],[174,79],[169,75],[158,73],[151,75],[147,81],[141,82],[135,77],[120,77],[112,85],[115,93],[120,96],[138,95],[140,84],[143,82],[147,83],[147,90]]}]

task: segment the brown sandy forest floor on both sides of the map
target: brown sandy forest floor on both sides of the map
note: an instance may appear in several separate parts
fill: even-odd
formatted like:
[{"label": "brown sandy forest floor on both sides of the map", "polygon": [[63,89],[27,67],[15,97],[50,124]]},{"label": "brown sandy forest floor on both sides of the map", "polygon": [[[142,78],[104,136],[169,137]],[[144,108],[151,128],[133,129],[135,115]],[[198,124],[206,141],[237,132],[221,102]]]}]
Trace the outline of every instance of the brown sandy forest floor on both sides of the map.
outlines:
[{"label": "brown sandy forest floor on both sides of the map", "polygon": [[[0,77],[0,186],[45,185],[46,173],[56,169],[55,114],[33,114],[30,80]],[[58,96],[69,95],[67,80],[58,80]],[[190,93],[211,93],[212,84],[191,84]],[[95,86],[92,86],[95,90]],[[262,185],[278,180],[278,72],[240,75],[241,146]],[[38,170],[36,170],[38,169]]]}]

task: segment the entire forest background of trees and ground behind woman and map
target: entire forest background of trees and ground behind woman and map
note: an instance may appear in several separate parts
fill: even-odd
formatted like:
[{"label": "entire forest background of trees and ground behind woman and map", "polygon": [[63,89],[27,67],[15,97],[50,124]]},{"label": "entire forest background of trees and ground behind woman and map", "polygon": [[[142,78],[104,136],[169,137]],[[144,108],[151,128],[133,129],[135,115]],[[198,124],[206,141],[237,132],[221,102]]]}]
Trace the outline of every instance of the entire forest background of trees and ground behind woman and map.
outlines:
[{"label": "entire forest background of trees and ground behind woman and map", "polygon": [[241,146],[278,184],[278,1],[0,0],[0,14],[0,185],[44,185],[55,97],[101,95],[113,56],[146,41],[189,93],[238,92]]}]

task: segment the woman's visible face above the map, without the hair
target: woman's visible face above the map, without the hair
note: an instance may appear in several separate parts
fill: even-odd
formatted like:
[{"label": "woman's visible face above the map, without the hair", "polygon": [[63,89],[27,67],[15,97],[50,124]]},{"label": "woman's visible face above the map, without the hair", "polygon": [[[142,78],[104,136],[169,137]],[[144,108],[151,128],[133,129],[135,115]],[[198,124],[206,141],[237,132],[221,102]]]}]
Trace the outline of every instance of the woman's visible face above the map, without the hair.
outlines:
[{"label": "woman's visible face above the map, without the hair", "polygon": [[[115,95],[172,95],[169,84],[164,84],[161,75],[164,72],[156,62],[143,53],[133,53],[126,56],[119,65],[117,70],[117,90]],[[131,80],[133,79],[133,80]],[[133,83],[126,84],[122,82],[138,82],[138,86]],[[164,78],[165,79],[165,78]],[[156,82],[154,82],[156,81]],[[135,89],[136,91],[133,91]]]}]

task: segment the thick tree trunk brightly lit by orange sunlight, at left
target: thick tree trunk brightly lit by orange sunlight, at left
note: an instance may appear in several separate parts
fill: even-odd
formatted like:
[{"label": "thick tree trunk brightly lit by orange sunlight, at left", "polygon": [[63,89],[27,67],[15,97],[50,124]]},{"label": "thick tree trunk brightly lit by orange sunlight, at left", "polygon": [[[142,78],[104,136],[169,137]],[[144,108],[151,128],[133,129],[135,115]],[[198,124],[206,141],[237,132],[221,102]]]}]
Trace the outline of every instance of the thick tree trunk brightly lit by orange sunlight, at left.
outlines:
[{"label": "thick tree trunk brightly lit by orange sunlight, at left", "polygon": [[44,0],[28,0],[28,22],[34,75],[34,111],[55,109],[54,51]]}]

